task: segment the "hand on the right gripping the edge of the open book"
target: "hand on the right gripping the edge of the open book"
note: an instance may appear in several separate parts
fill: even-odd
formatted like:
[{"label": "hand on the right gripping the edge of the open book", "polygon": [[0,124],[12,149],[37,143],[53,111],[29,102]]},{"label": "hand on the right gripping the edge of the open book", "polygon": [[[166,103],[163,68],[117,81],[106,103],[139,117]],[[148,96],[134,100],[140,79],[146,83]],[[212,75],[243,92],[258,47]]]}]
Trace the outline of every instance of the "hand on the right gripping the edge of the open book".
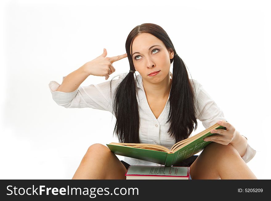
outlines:
[{"label": "hand on the right gripping the edge of the open book", "polygon": [[237,133],[233,125],[224,120],[218,121],[217,124],[226,127],[226,130],[212,129],[211,133],[218,133],[220,135],[211,135],[209,137],[204,138],[204,141],[213,141],[222,145],[228,145],[229,143],[233,142],[234,139],[237,137]]}]

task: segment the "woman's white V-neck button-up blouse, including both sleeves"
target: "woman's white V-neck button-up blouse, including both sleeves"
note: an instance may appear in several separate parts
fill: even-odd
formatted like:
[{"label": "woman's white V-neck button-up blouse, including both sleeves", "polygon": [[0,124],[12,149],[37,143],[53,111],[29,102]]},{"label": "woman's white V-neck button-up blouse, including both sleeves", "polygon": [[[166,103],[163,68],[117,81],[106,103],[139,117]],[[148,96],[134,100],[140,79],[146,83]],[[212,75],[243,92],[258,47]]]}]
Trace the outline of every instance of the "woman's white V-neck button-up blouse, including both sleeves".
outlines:
[{"label": "woman's white V-neck button-up blouse, including both sleeves", "polygon": [[[123,73],[119,75],[118,79],[112,79],[112,94],[115,93],[116,87],[127,74],[128,73]],[[172,77],[171,72],[170,75]],[[63,77],[63,79],[64,78],[65,77]],[[156,119],[156,117],[152,113],[151,108],[148,105],[141,75],[134,74],[134,78],[136,81],[137,100],[139,106],[138,109],[140,121],[140,143],[162,145],[167,147],[168,149],[171,149],[171,147],[174,145],[174,138],[170,137],[167,133],[170,122],[166,123],[170,109],[169,101],[167,101],[164,110],[162,111],[158,119]],[[139,83],[137,83],[137,80]],[[197,114],[197,119],[202,122],[203,126],[205,128],[208,128],[219,120],[226,120],[224,118],[223,112],[211,99],[208,93],[203,89],[202,85],[196,80],[193,80],[193,82],[191,83],[192,87],[196,90],[196,98],[199,104],[199,109],[201,111],[201,114]],[[99,84],[91,84],[84,87],[80,86],[73,92],[56,91],[59,86],[60,84],[55,81],[51,81],[49,83],[49,88],[52,93],[53,100],[58,105],[65,108],[90,107],[98,110],[106,110],[111,112],[115,116],[112,107],[113,95],[110,95],[110,80]],[[242,157],[242,159],[245,161],[245,163],[247,163],[255,156],[255,154],[256,151],[252,149],[249,145],[247,145],[245,155]],[[163,166],[160,164],[130,157],[124,157],[123,161],[127,162],[130,165]]]}]

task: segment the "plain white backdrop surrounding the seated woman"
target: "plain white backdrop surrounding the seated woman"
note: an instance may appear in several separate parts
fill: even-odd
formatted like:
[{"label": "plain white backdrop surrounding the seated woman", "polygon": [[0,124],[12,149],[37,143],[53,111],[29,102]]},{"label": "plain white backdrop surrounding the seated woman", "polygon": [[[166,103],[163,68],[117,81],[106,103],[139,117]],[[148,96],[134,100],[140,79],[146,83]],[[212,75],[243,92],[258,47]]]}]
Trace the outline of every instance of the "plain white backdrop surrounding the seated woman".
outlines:
[{"label": "plain white backdrop surrounding the seated woman", "polygon": [[[117,142],[110,112],[58,106],[48,84],[61,84],[103,48],[107,56],[126,53],[128,34],[142,23],[168,33],[192,78],[257,150],[249,168],[271,179],[271,9],[264,1],[1,2],[0,179],[71,179],[90,145]],[[114,67],[109,79],[129,71],[128,59]],[[105,81],[91,75],[82,85]],[[203,129],[199,122],[196,133]]]}]

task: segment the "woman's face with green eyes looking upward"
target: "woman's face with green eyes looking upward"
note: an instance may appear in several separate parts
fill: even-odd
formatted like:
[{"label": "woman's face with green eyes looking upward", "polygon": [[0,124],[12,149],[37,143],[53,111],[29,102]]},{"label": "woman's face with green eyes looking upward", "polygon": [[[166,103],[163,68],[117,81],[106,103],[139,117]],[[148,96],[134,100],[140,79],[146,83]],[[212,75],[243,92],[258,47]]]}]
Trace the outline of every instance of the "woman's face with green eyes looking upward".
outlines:
[{"label": "woman's face with green eyes looking upward", "polygon": [[[164,43],[150,33],[141,33],[136,36],[131,52],[136,71],[142,79],[150,83],[159,83],[169,74],[170,59],[174,52],[167,50]],[[158,74],[150,76],[152,72]]]}]

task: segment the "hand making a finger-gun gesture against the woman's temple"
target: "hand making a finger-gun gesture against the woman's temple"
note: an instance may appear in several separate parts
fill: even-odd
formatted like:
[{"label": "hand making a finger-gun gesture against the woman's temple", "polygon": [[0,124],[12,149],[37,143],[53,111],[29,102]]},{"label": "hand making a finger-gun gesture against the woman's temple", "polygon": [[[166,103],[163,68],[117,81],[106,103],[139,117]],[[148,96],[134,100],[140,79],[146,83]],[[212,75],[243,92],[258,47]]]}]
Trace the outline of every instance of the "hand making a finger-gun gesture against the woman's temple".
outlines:
[{"label": "hand making a finger-gun gesture against the woman's temple", "polygon": [[107,51],[106,49],[103,49],[103,54],[98,56],[96,59],[84,64],[86,71],[90,75],[105,76],[105,79],[107,80],[109,75],[115,72],[115,68],[112,66],[113,62],[127,57],[127,53],[112,57],[106,57],[106,55]]}]

